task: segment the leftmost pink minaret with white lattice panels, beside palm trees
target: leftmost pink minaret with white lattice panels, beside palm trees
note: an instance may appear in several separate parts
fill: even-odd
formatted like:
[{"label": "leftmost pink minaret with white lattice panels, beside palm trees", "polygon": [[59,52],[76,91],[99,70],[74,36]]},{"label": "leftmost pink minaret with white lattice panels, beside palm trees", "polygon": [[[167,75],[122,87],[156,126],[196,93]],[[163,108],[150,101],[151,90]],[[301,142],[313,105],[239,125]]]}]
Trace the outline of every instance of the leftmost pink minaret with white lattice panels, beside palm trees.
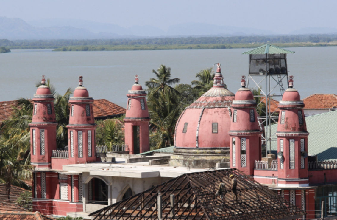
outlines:
[{"label": "leftmost pink minaret with white lattice panels, beside palm trees", "polygon": [[51,168],[52,150],[56,150],[56,118],[54,96],[45,85],[42,76],[41,85],[33,98],[33,117],[30,126],[31,165],[35,170]]}]

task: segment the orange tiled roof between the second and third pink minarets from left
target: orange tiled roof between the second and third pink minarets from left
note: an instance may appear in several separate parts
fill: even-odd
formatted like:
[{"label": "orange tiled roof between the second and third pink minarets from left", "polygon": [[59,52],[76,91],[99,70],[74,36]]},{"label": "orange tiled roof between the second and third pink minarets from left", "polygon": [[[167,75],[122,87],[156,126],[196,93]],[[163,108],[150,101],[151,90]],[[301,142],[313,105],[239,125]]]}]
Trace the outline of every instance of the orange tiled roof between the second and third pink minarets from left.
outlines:
[{"label": "orange tiled roof between the second and third pink minarets from left", "polygon": [[96,99],[93,104],[94,116],[104,118],[125,114],[126,109],[106,99]]}]

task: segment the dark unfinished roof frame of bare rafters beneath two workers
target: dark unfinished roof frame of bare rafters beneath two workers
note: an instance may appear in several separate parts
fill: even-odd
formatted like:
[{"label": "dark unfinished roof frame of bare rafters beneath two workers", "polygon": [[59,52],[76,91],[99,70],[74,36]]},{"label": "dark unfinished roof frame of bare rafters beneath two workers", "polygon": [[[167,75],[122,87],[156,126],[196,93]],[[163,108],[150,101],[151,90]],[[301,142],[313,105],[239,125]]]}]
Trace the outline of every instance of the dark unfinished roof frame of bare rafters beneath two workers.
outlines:
[{"label": "dark unfinished roof frame of bare rafters beneath two workers", "polygon": [[[238,181],[238,201],[232,201],[231,174]],[[223,202],[215,195],[220,179],[227,189]],[[295,205],[239,170],[223,169],[183,174],[90,216],[114,220],[268,220],[296,219],[303,214]]]}]

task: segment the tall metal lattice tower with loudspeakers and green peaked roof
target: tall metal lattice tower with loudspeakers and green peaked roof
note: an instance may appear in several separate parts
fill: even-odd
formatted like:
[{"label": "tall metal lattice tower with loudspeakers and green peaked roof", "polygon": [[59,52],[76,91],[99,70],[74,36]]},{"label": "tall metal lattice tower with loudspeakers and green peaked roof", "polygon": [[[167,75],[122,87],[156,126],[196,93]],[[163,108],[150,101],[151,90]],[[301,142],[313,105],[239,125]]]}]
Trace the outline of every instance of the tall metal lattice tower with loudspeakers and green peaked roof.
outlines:
[{"label": "tall metal lattice tower with loudspeakers and green peaked roof", "polygon": [[[263,148],[271,153],[271,141],[276,140],[270,125],[278,120],[278,101],[288,84],[287,53],[295,53],[273,45],[263,45],[243,54],[249,54],[248,87],[253,90],[259,113],[259,123],[264,125]],[[286,81],[285,81],[286,80]]]}]

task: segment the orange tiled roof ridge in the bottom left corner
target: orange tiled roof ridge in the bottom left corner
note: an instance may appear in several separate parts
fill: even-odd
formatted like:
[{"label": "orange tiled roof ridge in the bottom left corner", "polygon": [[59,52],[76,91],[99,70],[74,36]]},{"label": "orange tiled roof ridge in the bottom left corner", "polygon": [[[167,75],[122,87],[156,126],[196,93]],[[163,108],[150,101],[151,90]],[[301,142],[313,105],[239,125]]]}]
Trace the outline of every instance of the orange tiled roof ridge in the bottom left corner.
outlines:
[{"label": "orange tiled roof ridge in the bottom left corner", "polygon": [[44,216],[39,212],[0,212],[1,220],[55,220],[54,218]]}]

